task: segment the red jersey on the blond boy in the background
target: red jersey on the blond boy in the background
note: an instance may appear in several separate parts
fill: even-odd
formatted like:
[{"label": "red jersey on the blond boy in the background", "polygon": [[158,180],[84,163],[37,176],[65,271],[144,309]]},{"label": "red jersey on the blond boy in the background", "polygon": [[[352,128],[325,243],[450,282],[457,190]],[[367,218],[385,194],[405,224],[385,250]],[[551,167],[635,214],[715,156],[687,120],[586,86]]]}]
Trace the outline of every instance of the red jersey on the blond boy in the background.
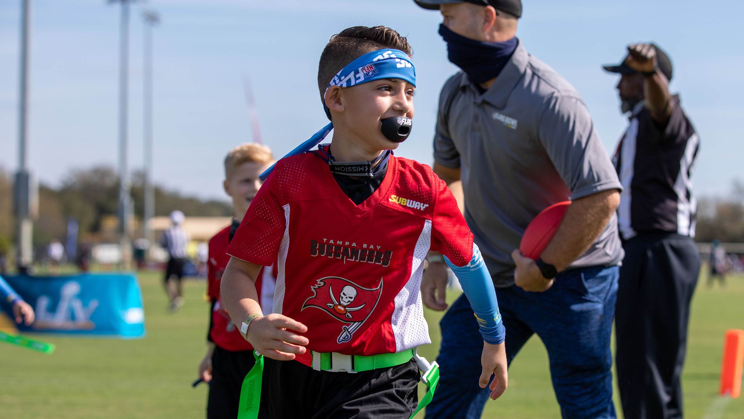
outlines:
[{"label": "red jersey on the blond boy in the background", "polygon": [[[219,294],[219,281],[222,272],[230,261],[230,255],[225,253],[230,245],[230,227],[215,234],[209,240],[209,259],[207,262],[207,294],[217,299],[212,310],[212,328],[209,331],[214,344],[226,350],[252,350],[253,346],[240,335],[235,324],[230,319],[228,312],[222,305],[222,297]],[[274,283],[276,280],[276,269],[273,266],[265,266],[258,274],[255,286],[261,297],[260,305],[265,314],[272,309],[274,297]],[[267,303],[268,300],[268,303]]]}]

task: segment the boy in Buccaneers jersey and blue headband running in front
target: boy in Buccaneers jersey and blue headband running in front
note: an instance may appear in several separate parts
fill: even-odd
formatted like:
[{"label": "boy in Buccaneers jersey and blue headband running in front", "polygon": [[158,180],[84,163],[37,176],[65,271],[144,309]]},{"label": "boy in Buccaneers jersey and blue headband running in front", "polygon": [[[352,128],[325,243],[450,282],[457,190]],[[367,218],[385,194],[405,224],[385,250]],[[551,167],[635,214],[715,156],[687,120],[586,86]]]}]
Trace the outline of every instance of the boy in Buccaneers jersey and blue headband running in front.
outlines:
[{"label": "boy in Buccaneers jersey and blue headband running in front", "polygon": [[[270,418],[410,418],[420,369],[426,404],[438,376],[415,348],[431,342],[419,292],[429,249],[446,256],[472,298],[481,388],[492,374],[493,399],[507,386],[496,293],[455,198],[429,166],[391,152],[414,115],[410,53],[405,37],[382,26],[331,38],[318,87],[332,122],[275,165],[228,248],[225,306],[263,355],[246,377],[239,418],[255,410],[262,383],[251,379],[263,362]],[[330,145],[304,153],[331,129]],[[264,316],[254,282],[277,258],[275,314]]]}]

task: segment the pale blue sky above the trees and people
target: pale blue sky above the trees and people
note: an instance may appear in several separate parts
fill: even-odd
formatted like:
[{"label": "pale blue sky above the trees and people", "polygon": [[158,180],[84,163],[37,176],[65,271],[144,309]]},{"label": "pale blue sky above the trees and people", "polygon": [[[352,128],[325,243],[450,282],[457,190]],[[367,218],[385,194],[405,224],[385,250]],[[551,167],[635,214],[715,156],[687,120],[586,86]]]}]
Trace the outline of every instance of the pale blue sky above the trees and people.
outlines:
[{"label": "pale blue sky above the trees and people", "polygon": [[[693,175],[702,195],[728,192],[743,175],[744,3],[523,0],[518,37],[580,92],[608,152],[626,126],[616,63],[630,42],[655,41],[673,60],[672,90],[701,136]],[[19,0],[0,3],[0,166],[17,167]],[[440,87],[457,71],[437,34],[439,13],[408,0],[150,0],[132,7],[129,160],[142,165],[144,8],[155,28],[155,181],[223,198],[222,159],[251,141],[243,77],[249,75],[264,141],[283,155],[327,123],[315,81],[328,38],[353,25],[408,36],[417,67],[416,118],[396,152],[432,162]],[[57,184],[71,168],[117,162],[119,7],[106,0],[33,0],[29,160]]]}]

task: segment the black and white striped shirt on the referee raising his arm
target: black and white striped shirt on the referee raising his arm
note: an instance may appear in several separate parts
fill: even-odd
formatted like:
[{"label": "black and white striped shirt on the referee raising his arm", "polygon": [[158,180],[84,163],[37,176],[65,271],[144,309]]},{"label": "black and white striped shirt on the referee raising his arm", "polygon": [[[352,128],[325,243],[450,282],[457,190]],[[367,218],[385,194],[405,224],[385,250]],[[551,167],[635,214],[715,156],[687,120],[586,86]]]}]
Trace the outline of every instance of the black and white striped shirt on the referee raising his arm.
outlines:
[{"label": "black and white striped shirt on the referee raising his arm", "polygon": [[674,96],[666,127],[659,127],[644,104],[638,104],[615,152],[623,192],[618,223],[623,239],[664,231],[695,236],[697,201],[691,176],[699,138]]}]

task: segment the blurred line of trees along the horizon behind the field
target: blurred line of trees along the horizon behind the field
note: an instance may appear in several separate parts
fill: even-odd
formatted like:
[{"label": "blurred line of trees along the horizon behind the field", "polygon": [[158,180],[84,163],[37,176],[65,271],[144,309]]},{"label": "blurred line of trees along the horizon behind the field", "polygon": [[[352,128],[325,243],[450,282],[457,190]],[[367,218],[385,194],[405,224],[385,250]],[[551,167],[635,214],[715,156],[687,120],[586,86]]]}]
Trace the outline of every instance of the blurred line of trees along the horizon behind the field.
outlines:
[{"label": "blurred line of trees along the horizon behind the field", "polygon": [[[78,222],[80,238],[97,233],[103,215],[115,214],[118,205],[118,175],[109,166],[73,169],[57,187],[39,184],[39,217],[34,221],[33,244],[47,245],[53,238],[65,239],[68,219]],[[144,174],[132,174],[135,216],[144,212]],[[180,209],[187,216],[229,216],[227,201],[205,201],[155,186],[155,215]],[[0,255],[13,243],[13,176],[0,168]],[[698,242],[744,242],[744,183],[735,181],[725,197],[703,197],[698,203]]]}]

